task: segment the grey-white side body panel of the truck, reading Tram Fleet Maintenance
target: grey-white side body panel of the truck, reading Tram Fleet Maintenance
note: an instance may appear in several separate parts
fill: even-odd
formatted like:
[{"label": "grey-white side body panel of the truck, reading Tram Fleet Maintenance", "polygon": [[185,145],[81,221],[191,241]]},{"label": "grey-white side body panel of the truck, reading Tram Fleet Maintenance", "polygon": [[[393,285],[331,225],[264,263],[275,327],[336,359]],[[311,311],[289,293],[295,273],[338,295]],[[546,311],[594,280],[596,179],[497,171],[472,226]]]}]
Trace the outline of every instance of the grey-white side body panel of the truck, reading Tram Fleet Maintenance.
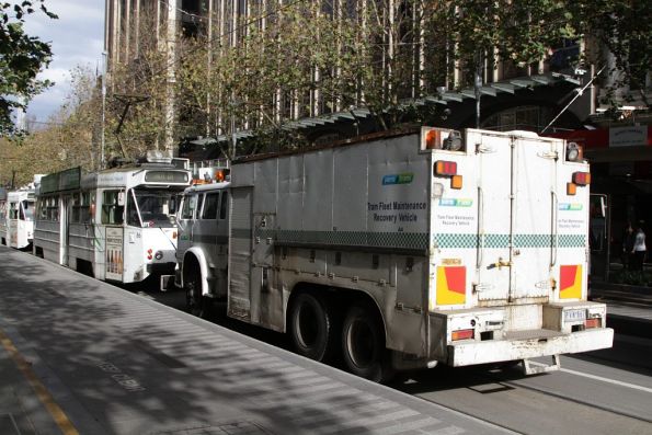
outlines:
[{"label": "grey-white side body panel of the truck, reading Tram Fleet Maintenance", "polygon": [[[299,284],[357,290],[380,310],[389,347],[424,354],[428,156],[408,135],[233,164],[231,185],[253,186],[249,320],[285,329],[287,300]],[[236,194],[233,201],[238,210]],[[273,260],[256,256],[262,251]],[[243,298],[233,279],[238,261],[231,264],[231,293]],[[259,304],[268,312],[254,314]]]}]

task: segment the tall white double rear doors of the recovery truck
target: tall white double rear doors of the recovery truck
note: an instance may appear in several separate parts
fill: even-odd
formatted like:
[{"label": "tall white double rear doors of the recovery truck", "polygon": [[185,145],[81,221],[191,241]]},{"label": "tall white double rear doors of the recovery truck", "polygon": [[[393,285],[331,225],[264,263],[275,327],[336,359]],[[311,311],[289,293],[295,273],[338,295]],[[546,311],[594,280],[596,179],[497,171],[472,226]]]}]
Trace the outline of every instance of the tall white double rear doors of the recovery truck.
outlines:
[{"label": "tall white double rear doors of the recovery truck", "polygon": [[556,160],[538,137],[469,137],[478,156],[478,301],[531,301],[550,290]]}]

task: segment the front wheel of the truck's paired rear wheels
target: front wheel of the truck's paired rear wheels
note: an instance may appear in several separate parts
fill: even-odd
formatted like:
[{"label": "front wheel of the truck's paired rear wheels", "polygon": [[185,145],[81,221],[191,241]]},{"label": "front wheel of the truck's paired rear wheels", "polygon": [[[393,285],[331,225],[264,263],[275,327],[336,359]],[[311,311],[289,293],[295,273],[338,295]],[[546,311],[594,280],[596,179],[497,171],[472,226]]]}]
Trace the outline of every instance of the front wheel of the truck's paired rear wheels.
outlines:
[{"label": "front wheel of the truck's paired rear wheels", "polygon": [[333,319],[322,298],[309,293],[298,295],[290,308],[289,329],[298,354],[320,362],[332,356]]}]

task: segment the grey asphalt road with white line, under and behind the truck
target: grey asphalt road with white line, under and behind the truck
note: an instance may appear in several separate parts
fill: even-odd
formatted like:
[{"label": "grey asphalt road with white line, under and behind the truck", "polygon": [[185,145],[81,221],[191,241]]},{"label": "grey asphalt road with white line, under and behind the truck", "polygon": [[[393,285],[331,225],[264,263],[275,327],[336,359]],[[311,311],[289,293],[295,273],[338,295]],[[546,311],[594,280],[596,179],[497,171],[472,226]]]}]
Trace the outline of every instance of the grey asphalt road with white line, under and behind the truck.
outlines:
[{"label": "grey asphalt road with white line, under and behind the truck", "polygon": [[[180,290],[131,291],[178,309]],[[284,335],[213,320],[271,344]],[[652,340],[616,334],[615,345],[562,356],[562,369],[524,376],[519,367],[437,367],[401,376],[391,387],[524,434],[652,434]]]}]

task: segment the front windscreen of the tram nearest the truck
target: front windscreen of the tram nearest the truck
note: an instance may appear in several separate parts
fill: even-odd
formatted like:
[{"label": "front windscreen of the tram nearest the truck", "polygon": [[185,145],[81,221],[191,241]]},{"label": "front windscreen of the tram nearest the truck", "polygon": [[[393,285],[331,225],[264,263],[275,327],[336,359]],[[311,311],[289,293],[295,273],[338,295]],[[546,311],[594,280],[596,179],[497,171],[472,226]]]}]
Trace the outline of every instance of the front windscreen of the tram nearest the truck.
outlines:
[{"label": "front windscreen of the tram nearest the truck", "polygon": [[[174,227],[175,193],[167,190],[134,188],[133,196],[128,196],[127,218],[129,225],[147,228]],[[134,207],[134,197],[136,207]],[[138,220],[138,211],[142,222]]]}]

